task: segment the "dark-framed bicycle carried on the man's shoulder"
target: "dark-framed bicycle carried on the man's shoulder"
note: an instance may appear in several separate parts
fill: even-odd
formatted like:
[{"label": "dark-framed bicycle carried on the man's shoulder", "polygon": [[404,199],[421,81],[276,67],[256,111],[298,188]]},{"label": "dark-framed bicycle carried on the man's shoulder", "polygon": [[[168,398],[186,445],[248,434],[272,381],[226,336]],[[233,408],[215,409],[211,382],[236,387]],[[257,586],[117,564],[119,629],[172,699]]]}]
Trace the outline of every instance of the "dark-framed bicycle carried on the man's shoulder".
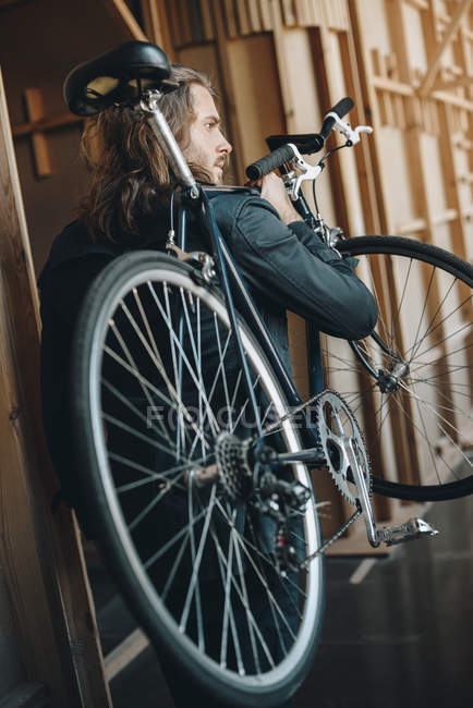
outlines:
[{"label": "dark-framed bicycle carried on the man's shoulder", "polygon": [[[65,84],[69,107],[78,114],[93,114],[112,102],[140,106],[181,182],[174,196],[178,240],[171,232],[168,254],[137,252],[116,259],[84,302],[71,379],[81,484],[98,520],[104,557],[153,643],[221,701],[269,706],[292,695],[312,664],[327,547],[359,516],[373,546],[436,533],[419,518],[378,528],[372,487],[409,499],[444,499],[471,493],[473,475],[451,480],[447,465],[440,476],[437,463],[436,485],[373,476],[347,401],[335,390],[306,402],[300,399],[216,224],[210,198],[218,188],[196,184],[160,114],[160,91],[171,88],[169,73],[159,48],[129,42],[81,65]],[[281,168],[294,204],[340,257],[373,254],[383,259],[388,254],[392,289],[397,259],[402,258],[409,259],[409,273],[417,264],[423,264],[422,270],[424,264],[432,266],[428,296],[437,270],[471,288],[471,267],[439,248],[388,236],[344,241],[318,212],[311,213],[300,186],[304,179],[314,183],[322,166],[310,166],[302,155],[320,150],[333,127],[347,136],[345,146],[355,144],[363,126],[352,131],[341,120],[351,106],[351,99],[340,101],[318,134],[268,138],[272,151],[250,169],[250,176]],[[210,254],[185,251],[190,213],[201,219]],[[401,290],[401,305],[410,278]],[[424,377],[430,388],[432,381],[439,382],[441,394],[437,407],[432,396],[425,399],[426,410],[434,410],[442,434],[464,461],[451,414],[469,419],[464,404],[457,405],[465,399],[469,369],[451,358],[458,356],[454,349],[445,356],[447,364],[425,359],[432,335],[436,338],[446,321],[453,284],[433,310],[421,306],[414,343],[395,349],[395,334],[402,332],[402,307],[393,312],[397,324],[387,324],[379,294],[380,331],[373,333],[373,343],[349,346],[378,396],[395,399],[402,391],[403,405],[411,388],[414,404],[423,402],[417,393],[421,378],[417,374],[414,380],[412,373],[437,366],[437,371],[453,376],[450,399],[439,375]],[[470,300],[454,300],[448,319],[457,322]],[[442,338],[436,339],[445,349]],[[204,366],[209,352],[215,361]],[[345,365],[344,356],[327,352]],[[421,358],[413,365],[415,356]],[[383,408],[381,401],[381,430]],[[395,404],[388,408],[395,410]],[[417,425],[411,410],[408,414]],[[427,432],[425,419],[422,425]],[[426,440],[430,447],[428,435]],[[328,467],[354,506],[340,532],[326,540],[307,465],[315,474]],[[211,635],[218,635],[217,643],[209,639],[205,617],[213,602],[221,611]]]}]

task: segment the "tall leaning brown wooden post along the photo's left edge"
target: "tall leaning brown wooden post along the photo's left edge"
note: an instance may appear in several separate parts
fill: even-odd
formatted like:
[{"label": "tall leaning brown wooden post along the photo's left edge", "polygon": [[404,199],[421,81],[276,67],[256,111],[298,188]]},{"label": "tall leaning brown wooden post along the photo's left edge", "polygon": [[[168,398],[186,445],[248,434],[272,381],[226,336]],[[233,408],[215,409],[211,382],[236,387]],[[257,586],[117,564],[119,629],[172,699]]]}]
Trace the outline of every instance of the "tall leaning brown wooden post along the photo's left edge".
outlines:
[{"label": "tall leaning brown wooden post along the photo's left edge", "polygon": [[[90,661],[84,683],[77,682],[70,644],[73,618],[63,605],[70,567],[53,553],[49,500],[58,480],[38,424],[38,294],[1,77],[0,180],[0,562],[14,600],[28,676],[50,686],[58,708],[82,707],[81,696],[89,706],[107,706],[104,693],[89,689],[96,663]],[[90,608],[85,603],[75,611],[87,618]]]}]

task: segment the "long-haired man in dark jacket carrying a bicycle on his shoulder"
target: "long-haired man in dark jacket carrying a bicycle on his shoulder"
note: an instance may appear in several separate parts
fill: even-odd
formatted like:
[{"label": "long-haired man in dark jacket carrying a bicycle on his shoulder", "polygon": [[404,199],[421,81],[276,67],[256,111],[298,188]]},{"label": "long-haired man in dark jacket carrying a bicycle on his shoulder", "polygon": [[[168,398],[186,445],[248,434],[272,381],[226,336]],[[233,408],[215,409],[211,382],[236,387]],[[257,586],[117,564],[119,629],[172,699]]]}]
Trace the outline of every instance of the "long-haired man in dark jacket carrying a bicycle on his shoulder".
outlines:
[{"label": "long-haired man in dark jacket carrying a bicycle on his shoulder", "polygon": [[[160,99],[160,108],[194,175],[221,184],[231,146],[220,129],[214,94],[205,76],[173,66],[179,88]],[[175,178],[146,118],[113,106],[85,127],[82,155],[90,185],[78,220],[56,239],[40,276],[43,401],[45,429],[64,495],[86,532],[95,535],[72,464],[68,424],[68,367],[74,325],[85,292],[120,254],[137,248],[163,249],[169,229],[169,197]],[[303,222],[276,174],[254,192],[213,199],[217,220],[243,277],[290,370],[286,309],[312,318],[333,335],[359,339],[376,322],[372,295],[341,260]],[[206,249],[191,223],[189,249]],[[180,680],[172,660],[161,657],[178,706],[210,701]]]}]

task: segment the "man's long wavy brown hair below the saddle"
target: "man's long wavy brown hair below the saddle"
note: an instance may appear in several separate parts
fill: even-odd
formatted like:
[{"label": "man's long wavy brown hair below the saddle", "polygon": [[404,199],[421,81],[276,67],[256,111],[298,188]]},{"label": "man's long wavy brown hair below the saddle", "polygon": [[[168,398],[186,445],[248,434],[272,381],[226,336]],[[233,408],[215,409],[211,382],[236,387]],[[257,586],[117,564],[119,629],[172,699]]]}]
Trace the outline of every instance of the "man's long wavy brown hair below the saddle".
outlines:
[{"label": "man's long wavy brown hair below the saddle", "polygon": [[[165,94],[159,107],[184,148],[194,119],[191,86],[199,84],[214,91],[207,77],[193,69],[173,64],[170,78],[179,88]],[[138,234],[140,223],[156,215],[159,203],[175,186],[175,175],[143,111],[111,106],[87,119],[80,152],[90,182],[78,218],[93,239]],[[193,172],[206,179],[197,167]]]}]

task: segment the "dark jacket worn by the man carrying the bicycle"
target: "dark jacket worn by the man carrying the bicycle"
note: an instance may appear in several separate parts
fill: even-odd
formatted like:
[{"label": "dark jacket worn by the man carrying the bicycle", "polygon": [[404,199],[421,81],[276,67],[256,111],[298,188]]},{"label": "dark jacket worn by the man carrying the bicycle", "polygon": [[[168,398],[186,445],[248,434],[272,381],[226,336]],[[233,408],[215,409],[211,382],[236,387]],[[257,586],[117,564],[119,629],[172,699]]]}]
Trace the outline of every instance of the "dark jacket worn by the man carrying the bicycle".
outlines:
[{"label": "dark jacket worn by the man carrying the bicycle", "polygon": [[[303,222],[284,225],[269,203],[251,192],[222,192],[213,199],[213,206],[289,371],[287,308],[335,337],[360,339],[369,333],[376,324],[376,304],[353,273],[354,259],[341,260]],[[165,208],[156,220],[143,223],[133,242],[94,242],[83,224],[75,221],[54,240],[39,277],[44,425],[52,462],[73,505],[82,504],[74,485],[68,380],[71,342],[82,301],[94,279],[117,256],[136,248],[163,249],[168,229]],[[208,251],[192,221],[187,249]]]}]

